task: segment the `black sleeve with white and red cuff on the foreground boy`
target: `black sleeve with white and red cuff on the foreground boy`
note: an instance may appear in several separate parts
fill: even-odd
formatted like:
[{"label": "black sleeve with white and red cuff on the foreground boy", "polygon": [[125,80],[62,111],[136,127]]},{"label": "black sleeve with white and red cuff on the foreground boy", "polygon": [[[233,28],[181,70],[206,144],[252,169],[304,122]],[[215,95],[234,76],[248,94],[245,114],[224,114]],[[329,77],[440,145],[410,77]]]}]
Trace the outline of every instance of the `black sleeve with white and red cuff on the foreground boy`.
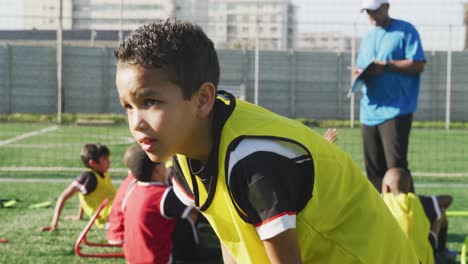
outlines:
[{"label": "black sleeve with white and red cuff on the foreground boy", "polygon": [[313,163],[303,155],[257,151],[237,161],[229,175],[241,218],[262,240],[296,228],[296,214],[311,198],[312,187]]}]

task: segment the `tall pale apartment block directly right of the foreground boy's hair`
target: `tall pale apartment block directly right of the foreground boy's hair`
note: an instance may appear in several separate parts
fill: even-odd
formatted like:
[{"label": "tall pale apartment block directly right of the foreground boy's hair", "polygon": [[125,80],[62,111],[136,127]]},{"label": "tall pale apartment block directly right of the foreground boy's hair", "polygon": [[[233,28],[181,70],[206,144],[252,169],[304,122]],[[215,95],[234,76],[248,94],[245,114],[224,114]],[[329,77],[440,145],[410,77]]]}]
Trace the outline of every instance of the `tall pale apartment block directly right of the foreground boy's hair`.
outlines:
[{"label": "tall pale apartment block directly right of the foreground boy's hair", "polygon": [[296,8],[290,0],[209,0],[208,36],[218,48],[292,49]]}]

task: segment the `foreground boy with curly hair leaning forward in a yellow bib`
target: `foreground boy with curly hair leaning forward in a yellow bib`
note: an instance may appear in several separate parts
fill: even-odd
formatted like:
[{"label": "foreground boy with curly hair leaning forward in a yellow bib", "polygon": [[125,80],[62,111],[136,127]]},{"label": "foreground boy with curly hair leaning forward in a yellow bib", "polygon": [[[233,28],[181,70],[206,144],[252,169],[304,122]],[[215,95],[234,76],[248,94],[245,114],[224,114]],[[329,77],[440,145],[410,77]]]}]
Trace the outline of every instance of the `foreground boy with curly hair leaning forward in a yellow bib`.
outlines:
[{"label": "foreground boy with curly hair leaning forward in a yellow bib", "polygon": [[174,190],[208,219],[225,263],[418,263],[359,166],[310,128],[217,91],[202,29],[143,25],[115,51],[129,128],[174,156]]}]

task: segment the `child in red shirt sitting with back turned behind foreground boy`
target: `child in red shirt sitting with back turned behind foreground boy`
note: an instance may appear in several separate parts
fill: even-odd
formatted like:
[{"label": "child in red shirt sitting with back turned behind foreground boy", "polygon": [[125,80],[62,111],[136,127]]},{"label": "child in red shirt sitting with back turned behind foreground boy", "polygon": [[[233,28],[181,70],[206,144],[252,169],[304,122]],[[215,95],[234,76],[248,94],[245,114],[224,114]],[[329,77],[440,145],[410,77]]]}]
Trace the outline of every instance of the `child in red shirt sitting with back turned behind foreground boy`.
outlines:
[{"label": "child in red shirt sitting with back turned behind foreground boy", "polygon": [[137,179],[122,202],[124,254],[128,263],[171,263],[172,233],[179,218],[195,218],[167,184],[163,163],[152,162],[140,149],[128,159]]}]

